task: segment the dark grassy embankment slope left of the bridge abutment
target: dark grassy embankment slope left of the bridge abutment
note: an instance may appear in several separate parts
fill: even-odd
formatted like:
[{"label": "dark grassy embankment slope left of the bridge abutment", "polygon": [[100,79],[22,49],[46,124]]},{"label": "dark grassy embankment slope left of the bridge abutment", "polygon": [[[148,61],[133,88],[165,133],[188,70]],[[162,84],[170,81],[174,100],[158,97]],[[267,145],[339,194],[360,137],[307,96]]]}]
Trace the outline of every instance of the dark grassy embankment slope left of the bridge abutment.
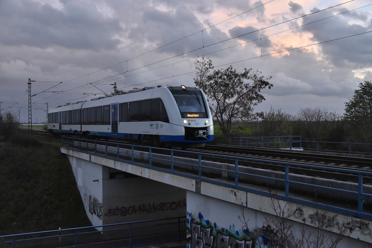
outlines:
[{"label": "dark grassy embankment slope left of the bridge abutment", "polygon": [[0,235],[90,226],[58,139],[0,142]]}]

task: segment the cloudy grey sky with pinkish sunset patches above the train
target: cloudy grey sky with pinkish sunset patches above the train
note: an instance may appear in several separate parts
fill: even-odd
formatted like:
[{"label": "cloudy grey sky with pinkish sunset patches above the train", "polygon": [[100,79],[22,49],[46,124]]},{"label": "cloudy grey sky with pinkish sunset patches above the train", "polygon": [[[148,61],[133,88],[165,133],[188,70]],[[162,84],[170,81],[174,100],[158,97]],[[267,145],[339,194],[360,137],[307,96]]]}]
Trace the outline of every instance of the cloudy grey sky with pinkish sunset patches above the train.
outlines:
[{"label": "cloudy grey sky with pinkish sunset patches above the train", "polygon": [[[0,0],[0,102],[28,122],[118,89],[194,86],[197,55],[273,78],[270,106],[343,114],[372,80],[371,0]],[[57,82],[57,83],[56,83]],[[62,82],[62,83],[58,83]],[[54,87],[53,87],[54,86]],[[94,96],[96,94],[96,96]],[[16,103],[17,104],[14,104]],[[14,105],[13,105],[14,104]],[[44,110],[43,110],[44,109]]]}]

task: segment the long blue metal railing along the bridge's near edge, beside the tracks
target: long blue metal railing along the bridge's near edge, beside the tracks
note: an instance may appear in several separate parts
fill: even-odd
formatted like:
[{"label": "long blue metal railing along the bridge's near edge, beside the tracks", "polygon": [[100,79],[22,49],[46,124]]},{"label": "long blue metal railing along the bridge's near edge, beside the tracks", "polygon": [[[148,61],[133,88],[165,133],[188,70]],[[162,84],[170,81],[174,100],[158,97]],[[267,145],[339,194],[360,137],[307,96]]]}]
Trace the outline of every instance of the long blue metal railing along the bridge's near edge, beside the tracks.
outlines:
[{"label": "long blue metal railing along the bridge's near edge, beside the tracks", "polygon": [[[89,143],[92,142],[92,143]],[[266,174],[260,171],[250,171],[250,167],[240,166],[239,163],[242,161],[250,162],[266,162],[264,159],[254,158],[242,158],[234,157],[229,155],[216,155],[216,154],[200,154],[198,152],[191,151],[180,151],[173,149],[162,149],[163,152],[169,152],[168,155],[159,155],[154,152],[138,152],[135,151],[138,147],[141,149],[155,149],[148,146],[140,145],[126,145],[114,142],[103,142],[103,141],[87,141],[84,139],[77,138],[62,138],[62,147],[82,151],[89,154],[94,154],[98,157],[106,157],[112,160],[122,161],[132,165],[137,165],[144,168],[151,168],[152,170],[162,171],[169,174],[180,175],[187,178],[192,178],[200,181],[205,181],[212,184],[221,185],[224,187],[231,187],[246,192],[259,194],[267,197],[276,197],[281,200],[288,200],[305,206],[317,207],[317,209],[324,209],[336,213],[342,213],[355,217],[365,218],[372,220],[372,214],[366,212],[363,209],[363,204],[371,204],[372,202],[372,187],[363,184],[365,177],[371,177],[372,172],[368,171],[356,171],[344,168],[330,168],[321,165],[304,165],[296,164],[292,162],[279,162],[269,161],[270,164],[280,165],[284,167],[283,172],[280,171],[269,171]],[[159,148],[156,148],[159,149]],[[196,155],[198,159],[191,160],[181,157],[174,156],[174,152],[182,152],[188,155]],[[203,161],[202,156],[213,156],[220,158],[228,158],[234,161],[227,167],[222,167],[221,164]],[[157,165],[161,167],[157,167]],[[226,164],[225,164],[226,165]],[[291,173],[298,168],[315,169],[320,171],[320,174],[324,172],[336,172],[354,175],[357,179],[355,183],[319,179],[317,177],[307,177],[305,175],[296,175]],[[182,169],[182,170],[181,170]],[[186,172],[185,172],[186,170]],[[218,175],[221,177],[225,174],[227,180],[220,181],[212,178],[217,178]],[[217,177],[216,177],[217,175]],[[230,181],[228,179],[231,179]],[[247,182],[257,181],[265,185],[269,185],[269,181],[276,187],[277,193],[270,193],[267,190],[254,189],[254,187],[246,186]],[[301,187],[298,187],[301,186]],[[303,189],[309,189],[307,193],[316,191],[318,200],[321,200],[321,194],[325,192],[325,202],[312,202],[310,200],[296,198],[295,192],[300,192]],[[280,193],[283,191],[283,193]],[[347,208],[330,206],[327,204],[327,200],[331,199],[331,196],[342,196],[347,199]],[[339,199],[336,199],[339,200]],[[368,209],[367,209],[368,210]],[[370,210],[370,209],[369,209]]]}]

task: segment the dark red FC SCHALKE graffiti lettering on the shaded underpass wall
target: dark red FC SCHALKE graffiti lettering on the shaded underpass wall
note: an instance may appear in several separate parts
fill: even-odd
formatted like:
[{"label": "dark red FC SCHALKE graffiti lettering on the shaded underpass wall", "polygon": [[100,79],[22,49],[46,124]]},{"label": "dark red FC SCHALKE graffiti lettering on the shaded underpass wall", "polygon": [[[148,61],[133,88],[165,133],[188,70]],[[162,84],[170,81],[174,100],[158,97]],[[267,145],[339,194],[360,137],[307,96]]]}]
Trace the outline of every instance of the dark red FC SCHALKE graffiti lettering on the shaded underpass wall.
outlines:
[{"label": "dark red FC SCHALKE graffiti lettering on the shaded underpass wall", "polygon": [[174,201],[174,202],[162,202],[162,203],[147,203],[130,206],[115,207],[108,209],[105,216],[127,216],[127,215],[142,215],[145,213],[157,213],[164,211],[182,210],[186,207],[186,199]]}]

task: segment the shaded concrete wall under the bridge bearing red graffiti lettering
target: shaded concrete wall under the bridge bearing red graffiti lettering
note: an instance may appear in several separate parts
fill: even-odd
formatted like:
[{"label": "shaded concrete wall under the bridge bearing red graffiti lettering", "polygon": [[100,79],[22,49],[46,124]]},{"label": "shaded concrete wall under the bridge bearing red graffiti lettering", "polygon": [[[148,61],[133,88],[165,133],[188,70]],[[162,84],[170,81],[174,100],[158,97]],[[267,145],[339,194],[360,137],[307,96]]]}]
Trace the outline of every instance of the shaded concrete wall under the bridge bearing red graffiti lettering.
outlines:
[{"label": "shaded concrete wall under the bridge bearing red graffiti lettering", "polygon": [[186,190],[142,177],[105,180],[104,223],[186,216]]}]

